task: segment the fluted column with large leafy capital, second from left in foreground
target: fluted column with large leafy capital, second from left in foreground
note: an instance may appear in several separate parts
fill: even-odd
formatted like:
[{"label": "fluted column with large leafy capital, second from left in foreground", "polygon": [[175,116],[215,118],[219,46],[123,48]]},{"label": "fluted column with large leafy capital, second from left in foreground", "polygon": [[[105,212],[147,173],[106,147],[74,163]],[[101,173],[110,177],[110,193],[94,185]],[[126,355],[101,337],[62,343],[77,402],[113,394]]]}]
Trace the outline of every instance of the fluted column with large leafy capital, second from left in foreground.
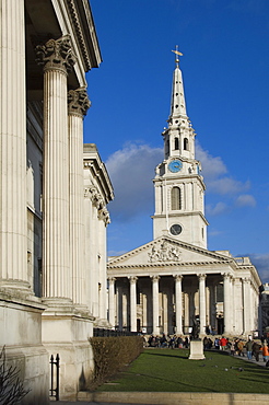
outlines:
[{"label": "fluted column with large leafy capital, second from left in foreground", "polygon": [[68,35],[36,53],[44,67],[44,296],[71,299],[67,77],[75,58]]}]

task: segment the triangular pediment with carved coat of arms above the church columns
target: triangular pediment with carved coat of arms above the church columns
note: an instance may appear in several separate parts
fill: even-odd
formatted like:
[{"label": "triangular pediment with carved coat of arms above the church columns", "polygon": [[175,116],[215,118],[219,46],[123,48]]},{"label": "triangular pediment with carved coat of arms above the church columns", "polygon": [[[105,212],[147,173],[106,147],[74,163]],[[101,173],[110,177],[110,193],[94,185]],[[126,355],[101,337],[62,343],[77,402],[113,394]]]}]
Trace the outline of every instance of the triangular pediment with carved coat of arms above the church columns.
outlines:
[{"label": "triangular pediment with carved coat of arms above the church columns", "polygon": [[136,267],[136,266],[162,266],[183,264],[227,263],[233,258],[204,250],[169,236],[161,236],[150,243],[113,257],[108,262],[108,268]]}]

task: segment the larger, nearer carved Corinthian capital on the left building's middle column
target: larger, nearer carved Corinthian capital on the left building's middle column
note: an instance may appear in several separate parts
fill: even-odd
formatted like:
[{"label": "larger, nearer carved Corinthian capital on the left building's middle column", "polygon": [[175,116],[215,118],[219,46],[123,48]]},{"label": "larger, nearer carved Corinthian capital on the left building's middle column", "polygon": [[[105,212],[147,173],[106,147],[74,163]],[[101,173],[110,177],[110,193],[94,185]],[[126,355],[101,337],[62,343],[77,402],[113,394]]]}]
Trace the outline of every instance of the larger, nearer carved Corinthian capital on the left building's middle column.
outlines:
[{"label": "larger, nearer carved Corinthian capital on the left building's middle column", "polygon": [[45,45],[38,45],[36,56],[37,63],[44,66],[44,70],[59,69],[70,72],[77,61],[69,35],[59,39],[49,39]]}]

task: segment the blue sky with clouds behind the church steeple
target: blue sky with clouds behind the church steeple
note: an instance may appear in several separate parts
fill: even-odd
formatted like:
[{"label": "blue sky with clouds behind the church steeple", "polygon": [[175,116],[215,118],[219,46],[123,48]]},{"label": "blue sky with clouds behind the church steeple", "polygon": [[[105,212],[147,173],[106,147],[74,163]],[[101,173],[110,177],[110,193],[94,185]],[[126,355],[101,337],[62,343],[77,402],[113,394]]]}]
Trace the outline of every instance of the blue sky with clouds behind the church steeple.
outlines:
[{"label": "blue sky with clouds behind the church steeple", "polygon": [[207,185],[208,248],[249,255],[269,281],[269,1],[91,0],[103,62],[87,73],[84,142],[115,190],[108,254],[152,240],[155,166],[176,45]]}]

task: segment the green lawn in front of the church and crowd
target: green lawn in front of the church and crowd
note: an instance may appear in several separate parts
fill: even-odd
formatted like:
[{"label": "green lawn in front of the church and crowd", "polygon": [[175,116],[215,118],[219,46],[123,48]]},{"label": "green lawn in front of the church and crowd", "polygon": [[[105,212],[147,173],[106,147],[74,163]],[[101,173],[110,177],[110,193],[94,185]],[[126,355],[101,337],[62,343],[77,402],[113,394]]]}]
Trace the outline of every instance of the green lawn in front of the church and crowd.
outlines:
[{"label": "green lawn in front of the church and crowd", "polygon": [[188,360],[188,355],[184,349],[145,349],[97,391],[269,393],[264,367],[215,351],[207,351],[206,360]]}]

